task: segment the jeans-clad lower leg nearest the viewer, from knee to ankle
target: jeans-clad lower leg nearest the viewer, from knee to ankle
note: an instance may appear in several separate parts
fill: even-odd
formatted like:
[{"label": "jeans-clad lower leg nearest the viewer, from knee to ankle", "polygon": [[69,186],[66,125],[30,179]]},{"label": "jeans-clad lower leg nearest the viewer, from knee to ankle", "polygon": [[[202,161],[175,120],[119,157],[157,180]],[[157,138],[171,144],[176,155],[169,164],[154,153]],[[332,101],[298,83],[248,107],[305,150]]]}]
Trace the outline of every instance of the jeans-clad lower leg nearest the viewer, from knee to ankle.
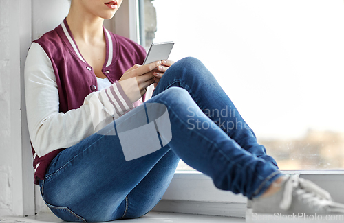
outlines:
[{"label": "jeans-clad lower leg nearest the viewer, from knee to ankle", "polygon": [[[241,148],[200,112],[185,89],[170,87],[148,102],[164,104],[169,111],[171,150],[185,163],[210,176],[217,188],[252,198],[281,175],[275,165]],[[190,113],[199,115],[194,119],[189,117]],[[164,139],[164,134],[161,137]]]}]

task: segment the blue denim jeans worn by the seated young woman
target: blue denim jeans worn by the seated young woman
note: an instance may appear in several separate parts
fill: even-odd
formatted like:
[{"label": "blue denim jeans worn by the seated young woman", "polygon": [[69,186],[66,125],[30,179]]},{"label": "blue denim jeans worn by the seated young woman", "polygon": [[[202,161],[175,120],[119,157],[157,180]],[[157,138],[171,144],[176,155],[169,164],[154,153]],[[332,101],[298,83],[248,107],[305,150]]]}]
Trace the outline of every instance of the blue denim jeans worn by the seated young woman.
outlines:
[{"label": "blue denim jeans worn by the seated young woman", "polygon": [[281,175],[276,161],[257,143],[199,60],[175,62],[149,101],[100,131],[125,125],[149,103],[166,106],[171,141],[151,154],[125,161],[118,135],[97,132],[60,152],[45,179],[39,180],[43,200],[59,218],[72,222],[138,218],[161,200],[180,159],[210,176],[217,188],[248,198],[261,195]]}]

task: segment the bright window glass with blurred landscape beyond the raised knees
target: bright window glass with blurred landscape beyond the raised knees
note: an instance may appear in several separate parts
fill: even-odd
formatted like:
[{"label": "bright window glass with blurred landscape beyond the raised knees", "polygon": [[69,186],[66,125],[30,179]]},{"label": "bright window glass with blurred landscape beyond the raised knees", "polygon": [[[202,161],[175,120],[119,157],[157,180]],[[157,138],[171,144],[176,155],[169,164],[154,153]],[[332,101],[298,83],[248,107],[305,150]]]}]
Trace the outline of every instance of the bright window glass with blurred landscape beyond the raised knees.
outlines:
[{"label": "bright window glass with blurred landscape beyond the raised knees", "polygon": [[343,0],[140,7],[142,45],[172,40],[171,60],[202,60],[281,169],[343,169]]}]

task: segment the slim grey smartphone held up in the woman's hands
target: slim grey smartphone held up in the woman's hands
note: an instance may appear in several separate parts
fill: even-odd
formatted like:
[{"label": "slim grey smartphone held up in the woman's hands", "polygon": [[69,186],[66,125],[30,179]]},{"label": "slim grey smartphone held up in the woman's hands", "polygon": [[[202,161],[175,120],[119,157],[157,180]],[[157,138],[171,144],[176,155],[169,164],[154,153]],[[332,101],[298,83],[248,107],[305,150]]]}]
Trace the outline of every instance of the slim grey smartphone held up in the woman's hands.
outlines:
[{"label": "slim grey smartphone held up in the woman's hands", "polygon": [[173,42],[152,43],[143,64],[149,64],[158,60],[167,60],[171,54]]}]

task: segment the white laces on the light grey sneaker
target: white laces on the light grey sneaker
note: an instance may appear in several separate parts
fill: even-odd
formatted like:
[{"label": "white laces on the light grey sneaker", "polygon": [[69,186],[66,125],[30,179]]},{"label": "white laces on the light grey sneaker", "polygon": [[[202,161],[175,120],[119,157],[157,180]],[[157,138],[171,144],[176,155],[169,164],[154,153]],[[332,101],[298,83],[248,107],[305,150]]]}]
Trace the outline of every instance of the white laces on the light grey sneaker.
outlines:
[{"label": "white laces on the light grey sneaker", "polygon": [[310,207],[316,209],[323,209],[325,207],[336,206],[344,208],[343,204],[332,202],[330,193],[312,183],[310,180],[299,178],[299,175],[292,175],[286,181],[283,191],[283,199],[279,207],[283,210],[288,210],[292,204],[292,195],[295,193],[301,200],[310,204]]}]

